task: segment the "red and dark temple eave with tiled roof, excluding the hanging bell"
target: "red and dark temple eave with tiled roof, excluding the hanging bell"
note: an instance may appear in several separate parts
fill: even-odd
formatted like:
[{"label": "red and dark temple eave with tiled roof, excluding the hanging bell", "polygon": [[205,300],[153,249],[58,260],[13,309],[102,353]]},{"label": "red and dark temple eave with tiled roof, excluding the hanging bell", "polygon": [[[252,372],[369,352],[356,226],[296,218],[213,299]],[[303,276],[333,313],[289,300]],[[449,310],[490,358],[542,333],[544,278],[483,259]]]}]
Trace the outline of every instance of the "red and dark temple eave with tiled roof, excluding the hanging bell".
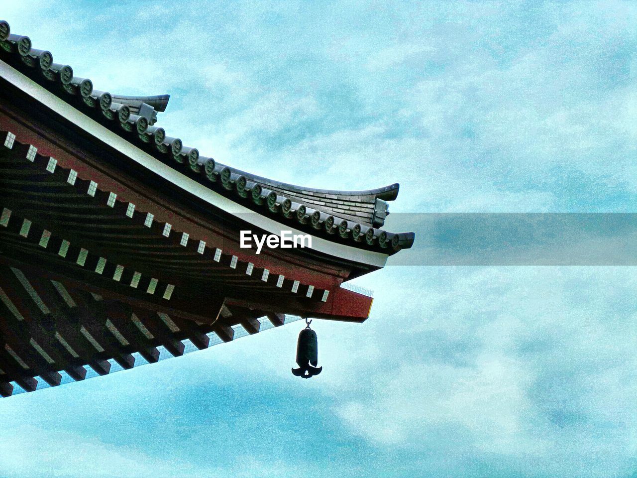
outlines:
[{"label": "red and dark temple eave with tiled roof, excluding the hanging bell", "polygon": [[[286,317],[362,322],[347,280],[411,247],[398,185],[285,184],[157,126],[169,96],[97,91],[0,22],[0,395],[180,356]],[[240,247],[240,231],[311,247]],[[16,387],[17,386],[17,387]]]}]

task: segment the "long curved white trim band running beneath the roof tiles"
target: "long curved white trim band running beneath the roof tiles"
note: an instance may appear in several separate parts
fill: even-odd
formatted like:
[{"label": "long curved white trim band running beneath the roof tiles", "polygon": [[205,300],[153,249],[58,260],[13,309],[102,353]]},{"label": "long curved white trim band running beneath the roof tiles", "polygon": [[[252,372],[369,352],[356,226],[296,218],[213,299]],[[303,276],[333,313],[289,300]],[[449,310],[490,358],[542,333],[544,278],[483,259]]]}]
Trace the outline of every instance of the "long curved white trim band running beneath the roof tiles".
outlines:
[{"label": "long curved white trim band running beneath the roof tiles", "polygon": [[[268,233],[280,235],[281,231],[289,231],[289,226],[284,226],[280,222],[276,222],[269,217],[254,212],[247,207],[240,205],[232,201],[231,199],[218,194],[203,184],[192,180],[179,171],[174,170],[167,164],[162,163],[158,159],[150,156],[145,151],[132,145],[121,136],[106,129],[106,127],[97,123],[95,120],[90,119],[87,115],[76,110],[73,106],[69,105],[62,99],[57,98],[52,92],[38,85],[38,83],[31,80],[25,75],[22,75],[19,71],[11,68],[8,64],[0,61],[0,77],[4,78],[15,87],[36,99],[39,103],[47,106],[55,113],[62,115],[64,118],[83,129],[87,133],[91,134],[99,141],[110,145],[118,150],[120,153],[131,158],[141,166],[147,168],[151,173],[157,173],[162,178],[165,178],[182,188],[184,191],[190,192],[195,196],[203,199],[207,203],[224,210],[225,212],[234,215],[247,221],[254,226],[267,231]],[[292,229],[293,235],[301,235],[303,232]],[[356,247],[350,247],[347,245],[331,242],[323,238],[312,236],[311,249],[317,250],[330,256],[339,257],[343,259],[349,259],[363,264],[368,264],[376,267],[383,267],[387,262],[387,255],[380,252],[374,252],[371,250],[357,249]]]}]

